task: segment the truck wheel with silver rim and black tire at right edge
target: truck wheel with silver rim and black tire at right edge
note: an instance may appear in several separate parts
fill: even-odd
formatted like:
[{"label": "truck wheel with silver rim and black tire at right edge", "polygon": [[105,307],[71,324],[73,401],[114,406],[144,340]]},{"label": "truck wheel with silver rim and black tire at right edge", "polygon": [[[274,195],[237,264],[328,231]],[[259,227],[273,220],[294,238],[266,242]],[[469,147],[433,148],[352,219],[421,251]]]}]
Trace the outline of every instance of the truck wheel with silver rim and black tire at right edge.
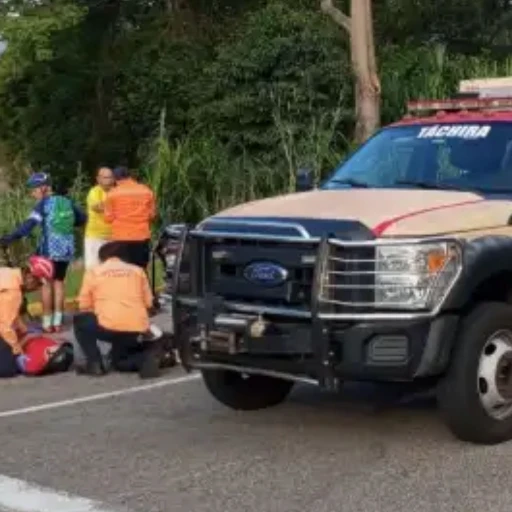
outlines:
[{"label": "truck wheel with silver rim and black tire at right edge", "polygon": [[484,302],[463,318],[438,404],[461,441],[512,438],[512,306]]}]

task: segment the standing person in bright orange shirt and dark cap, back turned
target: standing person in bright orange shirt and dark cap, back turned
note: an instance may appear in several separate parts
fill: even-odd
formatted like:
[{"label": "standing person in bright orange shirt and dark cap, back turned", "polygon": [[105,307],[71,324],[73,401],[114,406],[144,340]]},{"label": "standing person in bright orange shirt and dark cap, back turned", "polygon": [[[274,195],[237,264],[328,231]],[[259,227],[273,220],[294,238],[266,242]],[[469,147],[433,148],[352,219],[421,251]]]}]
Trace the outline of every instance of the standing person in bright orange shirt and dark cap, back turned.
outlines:
[{"label": "standing person in bright orange shirt and dark cap, back turned", "polygon": [[126,167],[116,167],[117,186],[107,194],[103,216],[111,226],[111,240],[120,242],[122,259],[144,269],[150,259],[151,223],[156,217],[153,191],[138,183]]}]

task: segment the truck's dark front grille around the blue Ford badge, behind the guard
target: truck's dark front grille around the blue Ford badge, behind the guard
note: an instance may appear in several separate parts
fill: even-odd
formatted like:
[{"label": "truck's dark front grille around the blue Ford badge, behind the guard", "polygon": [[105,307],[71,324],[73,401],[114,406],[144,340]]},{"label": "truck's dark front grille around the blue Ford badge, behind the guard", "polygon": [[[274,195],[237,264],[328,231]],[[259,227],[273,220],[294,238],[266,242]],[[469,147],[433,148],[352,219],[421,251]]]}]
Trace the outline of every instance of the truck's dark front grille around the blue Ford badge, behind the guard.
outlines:
[{"label": "truck's dark front grille around the blue Ford badge, behind the guard", "polygon": [[[195,276],[193,295],[218,295],[248,304],[310,311],[319,257],[319,242],[197,238],[193,256],[201,269]],[[199,262],[202,261],[202,264]],[[288,271],[287,280],[267,287],[246,279],[244,270],[253,262],[272,262]],[[327,259],[319,303],[323,312],[358,311],[374,300],[375,247],[350,246],[331,250]]]}]

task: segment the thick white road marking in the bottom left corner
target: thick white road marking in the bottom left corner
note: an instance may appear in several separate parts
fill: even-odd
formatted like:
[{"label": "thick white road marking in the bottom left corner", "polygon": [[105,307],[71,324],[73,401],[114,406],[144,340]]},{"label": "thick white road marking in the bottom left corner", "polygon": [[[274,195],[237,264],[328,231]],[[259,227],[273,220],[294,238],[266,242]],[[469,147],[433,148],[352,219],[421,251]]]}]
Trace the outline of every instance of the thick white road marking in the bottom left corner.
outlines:
[{"label": "thick white road marking in the bottom left corner", "polygon": [[0,475],[0,510],[9,512],[125,512],[121,508]]}]

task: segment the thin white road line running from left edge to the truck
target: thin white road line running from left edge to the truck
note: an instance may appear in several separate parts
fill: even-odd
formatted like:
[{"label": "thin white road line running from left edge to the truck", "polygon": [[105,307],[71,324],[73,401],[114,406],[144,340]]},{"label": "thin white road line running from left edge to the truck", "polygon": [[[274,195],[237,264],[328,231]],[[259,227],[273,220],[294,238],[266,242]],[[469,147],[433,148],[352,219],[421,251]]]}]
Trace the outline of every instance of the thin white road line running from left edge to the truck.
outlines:
[{"label": "thin white road line running from left edge to the truck", "polygon": [[131,395],[138,393],[139,391],[149,391],[151,389],[163,388],[166,386],[174,386],[175,384],[181,384],[183,382],[189,382],[191,380],[197,380],[201,376],[198,373],[190,375],[184,375],[183,377],[177,377],[174,379],[164,379],[150,384],[144,384],[141,386],[133,386],[131,388],[118,389],[116,391],[107,391],[106,393],[97,393],[95,395],[81,396],[77,398],[70,398],[68,400],[61,400],[59,402],[49,402],[46,404],[33,405],[31,407],[23,407],[20,409],[11,409],[9,411],[0,411],[0,418],[9,418],[11,416],[20,416],[22,414],[30,414],[32,412],[47,411],[50,409],[59,409],[60,407],[68,407],[71,405],[84,404],[87,402],[96,402],[98,400],[106,400],[123,395]]}]

